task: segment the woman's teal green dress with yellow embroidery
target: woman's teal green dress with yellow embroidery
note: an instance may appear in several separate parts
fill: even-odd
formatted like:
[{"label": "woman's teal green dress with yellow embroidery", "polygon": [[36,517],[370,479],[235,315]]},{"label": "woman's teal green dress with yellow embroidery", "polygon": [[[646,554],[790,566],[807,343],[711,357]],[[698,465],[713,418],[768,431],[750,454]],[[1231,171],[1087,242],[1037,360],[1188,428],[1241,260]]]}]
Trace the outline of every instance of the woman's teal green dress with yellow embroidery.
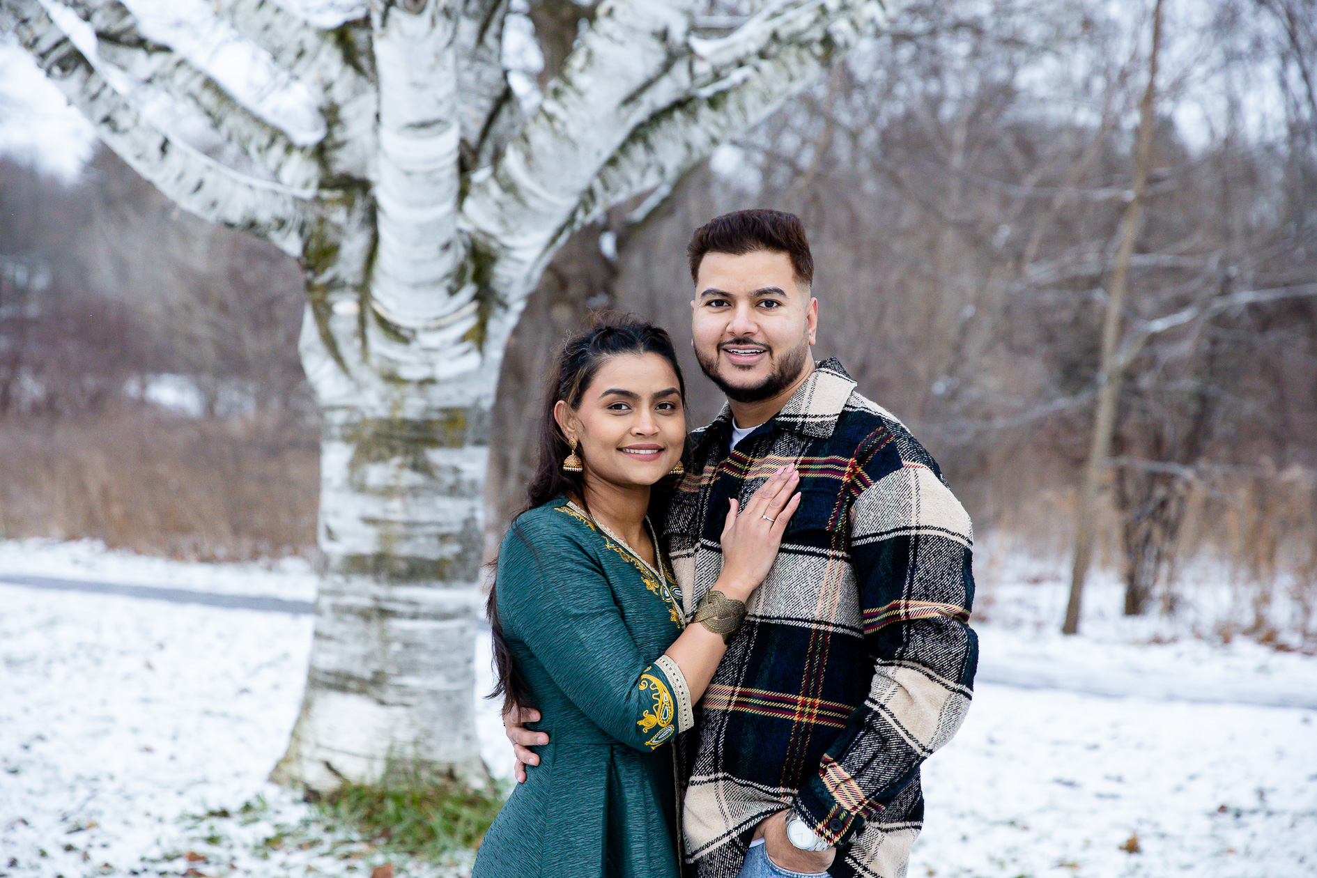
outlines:
[{"label": "woman's teal green dress with yellow embroidery", "polygon": [[676,578],[558,498],[508,528],[497,587],[503,634],[544,717],[532,728],[549,744],[471,878],[677,878],[665,745],[694,717],[681,669],[662,654],[684,624]]}]

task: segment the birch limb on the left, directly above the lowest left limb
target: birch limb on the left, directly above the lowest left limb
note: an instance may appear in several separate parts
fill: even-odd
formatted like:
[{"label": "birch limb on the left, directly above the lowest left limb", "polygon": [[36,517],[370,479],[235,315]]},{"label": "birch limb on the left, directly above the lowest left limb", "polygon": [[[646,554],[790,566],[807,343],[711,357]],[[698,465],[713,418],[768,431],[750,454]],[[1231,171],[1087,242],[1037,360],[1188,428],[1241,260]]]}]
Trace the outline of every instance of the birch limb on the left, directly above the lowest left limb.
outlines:
[{"label": "birch limb on the left, directly above the lowest left limb", "polygon": [[182,108],[203,116],[215,134],[238,146],[284,186],[313,188],[320,168],[311,153],[258,118],[204,71],[145,37],[133,13],[117,0],[72,0],[68,8],[92,26],[101,61],[121,67],[148,91],[167,93]]}]

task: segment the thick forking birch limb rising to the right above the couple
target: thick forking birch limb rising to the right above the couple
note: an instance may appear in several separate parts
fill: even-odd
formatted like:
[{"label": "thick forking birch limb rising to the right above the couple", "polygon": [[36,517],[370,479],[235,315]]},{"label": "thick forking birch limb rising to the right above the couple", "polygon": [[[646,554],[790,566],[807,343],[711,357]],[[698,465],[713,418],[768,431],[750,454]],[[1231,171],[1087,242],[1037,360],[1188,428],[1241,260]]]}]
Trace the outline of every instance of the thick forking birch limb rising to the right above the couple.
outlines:
[{"label": "thick forking birch limb rising to the right above the couple", "polygon": [[[727,37],[690,37],[689,3],[619,0],[547,90],[464,216],[499,276],[533,274],[590,216],[680,174],[811,82],[892,4],[774,0]],[[607,166],[607,167],[606,167]]]}]

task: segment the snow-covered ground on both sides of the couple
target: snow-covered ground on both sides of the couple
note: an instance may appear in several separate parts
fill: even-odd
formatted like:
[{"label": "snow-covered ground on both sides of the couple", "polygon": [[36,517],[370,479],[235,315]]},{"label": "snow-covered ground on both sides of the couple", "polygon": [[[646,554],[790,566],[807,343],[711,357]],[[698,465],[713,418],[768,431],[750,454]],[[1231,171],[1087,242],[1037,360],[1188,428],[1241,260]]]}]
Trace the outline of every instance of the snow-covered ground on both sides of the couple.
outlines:
[{"label": "snow-covered ground on both sides of the couple", "polygon": [[[1030,563],[980,571],[996,621],[979,627],[969,717],[926,766],[910,875],[1317,875],[1317,658],[1123,620],[1102,577],[1085,633],[1062,638],[1060,581]],[[5,574],[315,591],[296,562],[179,563],[95,544],[0,542]],[[370,874],[378,852],[315,840],[307,806],[265,781],[299,706],[311,624],[0,584],[0,875]],[[497,710],[478,711],[506,777]],[[461,874],[465,862],[399,866]]]}]

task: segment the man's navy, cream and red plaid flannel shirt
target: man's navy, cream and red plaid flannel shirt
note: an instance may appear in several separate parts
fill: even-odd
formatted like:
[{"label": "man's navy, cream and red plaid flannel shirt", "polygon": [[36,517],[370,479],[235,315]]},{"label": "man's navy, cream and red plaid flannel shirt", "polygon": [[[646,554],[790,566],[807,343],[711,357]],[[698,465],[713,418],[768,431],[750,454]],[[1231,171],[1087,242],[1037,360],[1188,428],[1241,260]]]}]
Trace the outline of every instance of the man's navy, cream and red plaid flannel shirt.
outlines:
[{"label": "man's navy, cream and red plaid flannel shirt", "polygon": [[682,742],[684,836],[699,878],[734,878],[756,824],[794,808],[839,845],[832,875],[903,875],[919,763],[969,707],[979,642],[969,516],[836,359],[728,453],[724,408],[694,436],[668,513],[687,619],[718,579],[728,499],[785,463],[801,505]]}]

